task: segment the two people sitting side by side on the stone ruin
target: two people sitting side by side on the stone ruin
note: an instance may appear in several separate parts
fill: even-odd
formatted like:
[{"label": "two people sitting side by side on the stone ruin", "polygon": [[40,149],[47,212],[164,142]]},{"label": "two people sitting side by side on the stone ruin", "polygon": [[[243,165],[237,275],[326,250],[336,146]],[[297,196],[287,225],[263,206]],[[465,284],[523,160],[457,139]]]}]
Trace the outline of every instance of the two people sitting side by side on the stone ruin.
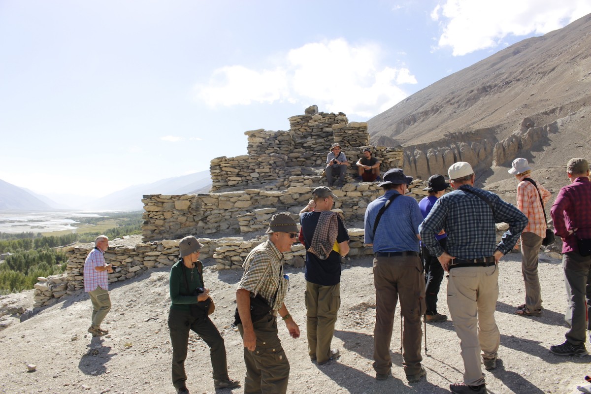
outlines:
[{"label": "two people sitting side by side on the stone ruin", "polygon": [[[347,167],[349,167],[349,161],[345,153],[342,152],[341,146],[338,142],[330,146],[330,152],[326,157],[326,180],[328,181],[329,187],[335,185],[335,178],[338,177],[337,186],[345,184],[345,175],[347,174]],[[380,162],[376,157],[372,157],[370,148],[363,148],[363,157],[355,163],[357,166],[357,177],[355,178],[359,182],[374,182],[380,181],[379,177],[379,166]]]}]

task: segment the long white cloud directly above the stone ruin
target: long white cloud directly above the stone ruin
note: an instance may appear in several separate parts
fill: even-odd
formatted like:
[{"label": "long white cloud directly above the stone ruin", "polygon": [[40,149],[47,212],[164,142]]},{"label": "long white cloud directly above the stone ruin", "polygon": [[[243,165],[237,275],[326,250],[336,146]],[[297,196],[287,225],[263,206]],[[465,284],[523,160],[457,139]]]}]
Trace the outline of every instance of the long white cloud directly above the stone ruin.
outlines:
[{"label": "long white cloud directly above the stone ruin", "polygon": [[346,40],[305,44],[292,49],[273,70],[226,66],[195,87],[197,99],[209,106],[287,101],[369,118],[407,97],[401,84],[417,80],[405,67],[382,63],[376,44]]}]

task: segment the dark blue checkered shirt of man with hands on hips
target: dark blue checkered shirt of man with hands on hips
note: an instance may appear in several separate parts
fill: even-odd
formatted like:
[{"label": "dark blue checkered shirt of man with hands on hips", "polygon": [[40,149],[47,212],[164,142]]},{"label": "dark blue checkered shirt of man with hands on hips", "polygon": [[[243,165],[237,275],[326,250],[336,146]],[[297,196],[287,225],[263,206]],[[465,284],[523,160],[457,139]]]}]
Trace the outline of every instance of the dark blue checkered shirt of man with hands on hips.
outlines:
[{"label": "dark blue checkered shirt of man with hands on hips", "polygon": [[[469,189],[488,198],[495,210],[493,212],[485,201],[464,191]],[[495,223],[505,222],[509,229],[501,242],[496,243]],[[527,224],[527,217],[517,207],[501,200],[490,191],[470,185],[462,185],[459,190],[441,196],[420,226],[421,239],[427,249],[435,256],[444,252],[435,235],[444,229],[447,233],[446,252],[460,259],[478,259],[492,256],[496,249],[503,254],[513,247]]]}]

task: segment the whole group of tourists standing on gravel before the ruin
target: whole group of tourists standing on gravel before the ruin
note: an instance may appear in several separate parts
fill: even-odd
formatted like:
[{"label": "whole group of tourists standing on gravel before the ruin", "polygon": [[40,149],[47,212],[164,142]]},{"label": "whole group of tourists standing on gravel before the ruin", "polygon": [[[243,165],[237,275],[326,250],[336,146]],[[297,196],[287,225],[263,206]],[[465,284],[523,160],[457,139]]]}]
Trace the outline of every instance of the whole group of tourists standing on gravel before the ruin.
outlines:
[{"label": "whole group of tourists standing on gravel before the ruin", "polygon": [[[334,154],[335,160],[342,163],[340,149],[334,149]],[[475,172],[467,162],[449,167],[449,183],[439,174],[430,177],[425,189],[429,195],[420,203],[405,196],[412,177],[400,168],[384,174],[379,186],[385,193],[372,201],[365,212],[365,243],[374,250],[375,379],[386,380],[392,373],[389,347],[399,299],[404,323],[405,375],[408,382],[418,382],[426,375],[421,364],[421,317],[429,323],[447,320],[446,315],[437,312],[437,294],[447,272],[447,305],[465,367],[463,382],[450,385],[450,390],[457,394],[486,393],[480,359],[486,370],[495,369],[500,344],[494,317],[499,295],[498,262],[519,240],[525,303],[515,313],[535,317],[542,311],[537,256],[547,237],[544,204],[550,199],[550,192],[530,177],[531,170],[524,158],[515,159],[509,170],[518,181],[517,207],[490,191],[476,188]],[[586,319],[591,311],[591,295],[587,292],[591,288],[588,162],[583,158],[571,159],[567,175],[571,183],[561,188],[550,216],[554,234],[563,240],[568,300],[565,320],[569,330],[566,341],[551,346],[550,351],[582,356],[587,354],[586,330],[591,330]],[[446,194],[449,187],[453,191]],[[277,316],[285,322],[291,337],[300,336],[300,328],[284,303],[289,279],[282,267],[282,253],[298,240],[306,247],[304,298],[310,360],[323,365],[340,356],[339,350],[331,349],[331,342],[340,307],[341,258],[349,252],[349,236],[342,219],[331,210],[335,198],[330,188],[315,188],[312,199],[300,211],[299,232],[290,214],[274,215],[267,241],[246,257],[236,291],[236,322],[246,365],[245,393],[287,392],[290,364],[278,337]],[[495,224],[500,222],[508,223],[509,229],[497,242]],[[106,278],[112,268],[102,256],[108,239],[99,236],[95,243],[96,248],[85,263],[85,290],[93,304],[89,332],[101,336],[106,330],[100,328],[100,323],[111,307]],[[189,330],[199,334],[210,347],[215,388],[239,385],[238,380],[228,376],[224,341],[209,318],[214,305],[203,283],[201,247],[194,236],[184,237],[179,244],[180,260],[170,272],[172,379],[181,394],[189,393],[184,371]]]}]

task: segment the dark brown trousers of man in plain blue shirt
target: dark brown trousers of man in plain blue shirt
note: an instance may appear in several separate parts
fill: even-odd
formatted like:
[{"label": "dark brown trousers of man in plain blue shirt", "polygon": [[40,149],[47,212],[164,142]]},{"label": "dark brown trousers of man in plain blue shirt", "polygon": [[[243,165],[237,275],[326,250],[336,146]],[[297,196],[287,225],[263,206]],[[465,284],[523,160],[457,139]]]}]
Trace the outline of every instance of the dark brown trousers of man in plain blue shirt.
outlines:
[{"label": "dark brown trousers of man in plain blue shirt", "polygon": [[392,367],[390,343],[394,327],[394,312],[400,298],[404,317],[402,332],[402,366],[404,373],[421,371],[421,316],[425,313],[425,276],[418,256],[374,258],[375,328],[374,369],[385,375]]}]

